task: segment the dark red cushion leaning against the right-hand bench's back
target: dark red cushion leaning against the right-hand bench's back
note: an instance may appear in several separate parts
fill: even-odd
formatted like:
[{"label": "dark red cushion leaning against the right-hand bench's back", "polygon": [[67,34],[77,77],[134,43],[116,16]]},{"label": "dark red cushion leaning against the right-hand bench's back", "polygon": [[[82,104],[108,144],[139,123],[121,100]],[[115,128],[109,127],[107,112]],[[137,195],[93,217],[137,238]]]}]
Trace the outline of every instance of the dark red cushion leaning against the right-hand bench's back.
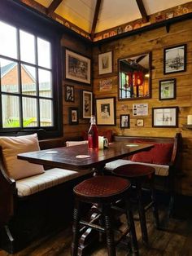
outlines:
[{"label": "dark red cushion leaning against the right-hand bench's back", "polygon": [[[135,143],[146,143],[146,141],[137,141]],[[150,142],[151,143],[151,142]],[[172,157],[173,143],[151,143],[155,147],[146,152],[134,154],[132,161],[151,163],[156,165],[168,165]]]}]

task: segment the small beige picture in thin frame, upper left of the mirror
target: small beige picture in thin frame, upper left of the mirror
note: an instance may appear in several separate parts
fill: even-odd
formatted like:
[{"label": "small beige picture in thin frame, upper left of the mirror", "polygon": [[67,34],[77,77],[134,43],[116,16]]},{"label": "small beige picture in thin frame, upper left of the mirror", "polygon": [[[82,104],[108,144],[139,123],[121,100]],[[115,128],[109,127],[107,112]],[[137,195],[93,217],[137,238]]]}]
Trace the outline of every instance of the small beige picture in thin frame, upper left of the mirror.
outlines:
[{"label": "small beige picture in thin frame, upper left of the mirror", "polygon": [[98,74],[112,73],[112,51],[98,55]]}]

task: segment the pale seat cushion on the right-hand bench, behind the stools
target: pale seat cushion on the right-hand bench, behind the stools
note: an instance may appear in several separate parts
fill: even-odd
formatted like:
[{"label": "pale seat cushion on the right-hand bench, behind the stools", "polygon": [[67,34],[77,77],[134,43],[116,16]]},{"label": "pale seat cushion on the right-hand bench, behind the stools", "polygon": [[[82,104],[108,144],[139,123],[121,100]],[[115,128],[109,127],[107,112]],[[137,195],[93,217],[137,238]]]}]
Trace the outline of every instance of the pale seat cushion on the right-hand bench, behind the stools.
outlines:
[{"label": "pale seat cushion on the right-hand bench, behind the stools", "polygon": [[148,164],[148,163],[142,163],[138,161],[129,161],[124,159],[118,159],[116,161],[110,161],[105,165],[106,170],[114,170],[119,166],[129,165],[129,164],[140,164],[144,166],[152,166],[155,168],[155,175],[159,176],[168,176],[168,170],[169,166],[163,166],[163,165],[155,165],[155,164]]}]

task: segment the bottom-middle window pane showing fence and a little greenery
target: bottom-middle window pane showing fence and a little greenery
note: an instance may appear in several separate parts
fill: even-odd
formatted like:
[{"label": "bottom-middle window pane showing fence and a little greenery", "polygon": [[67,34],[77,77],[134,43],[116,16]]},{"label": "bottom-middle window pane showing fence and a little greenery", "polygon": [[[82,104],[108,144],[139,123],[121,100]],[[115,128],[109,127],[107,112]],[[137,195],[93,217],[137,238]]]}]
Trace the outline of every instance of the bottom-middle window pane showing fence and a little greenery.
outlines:
[{"label": "bottom-middle window pane showing fence and a little greenery", "polygon": [[23,97],[23,126],[37,126],[37,99]]}]

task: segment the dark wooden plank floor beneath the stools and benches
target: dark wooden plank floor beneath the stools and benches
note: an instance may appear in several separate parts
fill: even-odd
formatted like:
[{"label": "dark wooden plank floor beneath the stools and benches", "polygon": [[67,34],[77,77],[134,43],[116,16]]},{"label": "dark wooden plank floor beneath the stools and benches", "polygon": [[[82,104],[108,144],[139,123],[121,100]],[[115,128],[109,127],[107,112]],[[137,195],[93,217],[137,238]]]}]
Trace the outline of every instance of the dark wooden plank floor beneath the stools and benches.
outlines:
[{"label": "dark wooden plank floor beneath the stools and benches", "polygon": [[[191,256],[192,255],[192,216],[189,218],[167,219],[167,209],[161,206],[159,210],[162,230],[153,226],[152,214],[147,214],[147,227],[150,245],[147,248],[142,244],[139,223],[136,221],[137,240],[140,256]],[[14,254],[16,256],[70,256],[71,226],[63,232],[51,237],[45,237],[34,242],[28,248]],[[0,250],[0,256],[11,255]],[[104,246],[93,247],[88,256],[104,256],[107,251]],[[122,246],[117,248],[117,256],[129,255],[129,250]]]}]

